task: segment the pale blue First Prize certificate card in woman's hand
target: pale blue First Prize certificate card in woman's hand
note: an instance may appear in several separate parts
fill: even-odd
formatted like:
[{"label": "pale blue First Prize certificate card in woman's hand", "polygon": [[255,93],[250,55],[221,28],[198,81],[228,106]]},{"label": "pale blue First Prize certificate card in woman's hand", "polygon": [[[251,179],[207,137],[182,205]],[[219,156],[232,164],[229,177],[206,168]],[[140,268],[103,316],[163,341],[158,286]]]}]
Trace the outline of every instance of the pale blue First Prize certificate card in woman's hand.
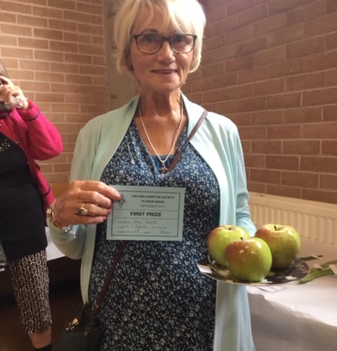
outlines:
[{"label": "pale blue First Prize certificate card in woman's hand", "polygon": [[107,239],[183,239],[185,188],[111,185],[121,194],[107,218]]}]

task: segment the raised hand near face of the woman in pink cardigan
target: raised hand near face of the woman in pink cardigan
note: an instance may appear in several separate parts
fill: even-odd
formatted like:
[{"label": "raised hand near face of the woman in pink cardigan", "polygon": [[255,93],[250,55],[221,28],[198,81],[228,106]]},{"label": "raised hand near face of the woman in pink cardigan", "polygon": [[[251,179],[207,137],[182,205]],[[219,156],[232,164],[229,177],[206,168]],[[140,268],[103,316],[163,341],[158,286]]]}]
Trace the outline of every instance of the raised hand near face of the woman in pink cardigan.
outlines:
[{"label": "raised hand near face of the woman in pink cardigan", "polygon": [[27,110],[28,101],[19,86],[15,86],[11,79],[0,76],[0,101],[4,102],[7,110],[21,108]]}]

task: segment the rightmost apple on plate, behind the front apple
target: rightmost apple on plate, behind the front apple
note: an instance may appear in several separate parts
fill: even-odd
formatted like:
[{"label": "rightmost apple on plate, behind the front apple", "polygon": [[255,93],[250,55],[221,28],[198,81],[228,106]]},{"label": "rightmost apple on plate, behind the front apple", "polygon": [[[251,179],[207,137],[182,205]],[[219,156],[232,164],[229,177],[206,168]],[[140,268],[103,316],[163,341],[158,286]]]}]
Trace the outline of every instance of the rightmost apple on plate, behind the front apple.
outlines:
[{"label": "rightmost apple on plate, behind the front apple", "polygon": [[272,269],[285,270],[300,251],[300,235],[290,225],[265,224],[254,237],[263,239],[272,251]]}]

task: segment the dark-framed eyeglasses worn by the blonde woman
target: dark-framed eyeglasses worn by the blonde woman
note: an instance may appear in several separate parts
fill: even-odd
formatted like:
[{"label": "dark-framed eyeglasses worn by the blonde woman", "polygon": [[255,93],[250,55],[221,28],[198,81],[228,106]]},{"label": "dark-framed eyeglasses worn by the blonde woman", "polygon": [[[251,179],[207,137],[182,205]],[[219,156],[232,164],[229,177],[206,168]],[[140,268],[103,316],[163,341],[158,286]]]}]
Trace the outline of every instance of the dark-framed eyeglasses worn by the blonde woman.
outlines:
[{"label": "dark-framed eyeglasses worn by the blonde woman", "polygon": [[197,36],[194,34],[173,34],[169,37],[162,37],[159,34],[146,33],[134,34],[138,50],[141,53],[158,53],[167,41],[173,53],[189,53],[193,50]]}]

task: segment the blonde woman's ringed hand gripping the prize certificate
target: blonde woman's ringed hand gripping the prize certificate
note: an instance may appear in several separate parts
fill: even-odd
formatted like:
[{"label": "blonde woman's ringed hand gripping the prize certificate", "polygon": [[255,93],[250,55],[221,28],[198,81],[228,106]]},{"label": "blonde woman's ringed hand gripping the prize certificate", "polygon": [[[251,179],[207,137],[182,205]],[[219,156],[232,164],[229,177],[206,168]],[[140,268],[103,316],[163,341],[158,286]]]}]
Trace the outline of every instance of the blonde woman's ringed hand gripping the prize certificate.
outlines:
[{"label": "blonde woman's ringed hand gripping the prize certificate", "polygon": [[120,200],[121,194],[103,182],[75,180],[55,200],[53,218],[58,227],[102,223]]}]

